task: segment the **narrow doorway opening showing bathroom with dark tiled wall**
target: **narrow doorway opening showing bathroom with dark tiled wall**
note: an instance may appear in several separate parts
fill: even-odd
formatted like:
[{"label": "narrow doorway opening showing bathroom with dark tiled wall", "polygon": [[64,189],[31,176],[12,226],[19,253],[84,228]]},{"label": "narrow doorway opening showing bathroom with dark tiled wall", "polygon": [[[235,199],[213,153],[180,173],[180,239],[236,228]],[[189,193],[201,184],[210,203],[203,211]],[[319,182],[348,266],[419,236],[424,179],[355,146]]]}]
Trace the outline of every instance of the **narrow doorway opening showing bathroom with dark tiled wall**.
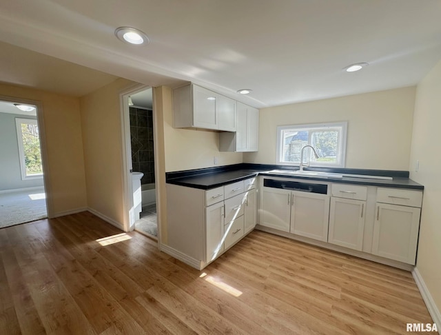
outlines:
[{"label": "narrow doorway opening showing bathroom with dark tiled wall", "polygon": [[134,229],[157,240],[152,88],[130,94],[127,100],[130,116]]}]

